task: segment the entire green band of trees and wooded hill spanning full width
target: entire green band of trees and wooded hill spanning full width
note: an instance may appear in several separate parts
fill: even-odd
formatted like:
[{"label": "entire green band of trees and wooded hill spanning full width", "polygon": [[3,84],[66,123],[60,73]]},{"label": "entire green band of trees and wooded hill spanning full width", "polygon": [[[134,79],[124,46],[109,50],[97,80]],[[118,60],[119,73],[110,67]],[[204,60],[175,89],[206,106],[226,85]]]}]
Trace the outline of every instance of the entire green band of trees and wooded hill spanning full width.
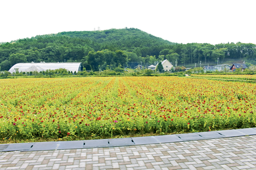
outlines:
[{"label": "entire green band of trees and wooded hill spanning full width", "polygon": [[255,44],[177,44],[137,28],[103,31],[61,32],[38,35],[0,45],[0,68],[9,70],[19,62],[82,62],[86,70],[149,66],[168,59],[179,66],[225,62],[227,59],[255,62]]}]

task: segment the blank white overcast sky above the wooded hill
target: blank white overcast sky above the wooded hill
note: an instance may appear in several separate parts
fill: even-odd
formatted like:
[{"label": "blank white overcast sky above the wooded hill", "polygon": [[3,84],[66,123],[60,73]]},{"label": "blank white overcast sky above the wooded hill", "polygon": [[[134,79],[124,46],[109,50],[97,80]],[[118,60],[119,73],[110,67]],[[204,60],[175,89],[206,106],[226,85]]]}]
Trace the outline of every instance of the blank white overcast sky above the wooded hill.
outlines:
[{"label": "blank white overcast sky above the wooded hill", "polygon": [[0,42],[134,27],[175,43],[256,43],[255,0],[1,1]]}]

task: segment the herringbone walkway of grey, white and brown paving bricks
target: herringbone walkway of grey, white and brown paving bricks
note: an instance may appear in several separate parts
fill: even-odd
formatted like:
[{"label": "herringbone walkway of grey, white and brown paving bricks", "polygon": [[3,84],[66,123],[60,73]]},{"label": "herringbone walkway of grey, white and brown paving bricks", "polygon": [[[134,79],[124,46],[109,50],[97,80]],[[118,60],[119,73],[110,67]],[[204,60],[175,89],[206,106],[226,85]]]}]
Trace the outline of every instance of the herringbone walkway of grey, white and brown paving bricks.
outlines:
[{"label": "herringbone walkway of grey, white and brown paving bricks", "polygon": [[164,144],[0,152],[7,169],[255,169],[256,135]]}]

